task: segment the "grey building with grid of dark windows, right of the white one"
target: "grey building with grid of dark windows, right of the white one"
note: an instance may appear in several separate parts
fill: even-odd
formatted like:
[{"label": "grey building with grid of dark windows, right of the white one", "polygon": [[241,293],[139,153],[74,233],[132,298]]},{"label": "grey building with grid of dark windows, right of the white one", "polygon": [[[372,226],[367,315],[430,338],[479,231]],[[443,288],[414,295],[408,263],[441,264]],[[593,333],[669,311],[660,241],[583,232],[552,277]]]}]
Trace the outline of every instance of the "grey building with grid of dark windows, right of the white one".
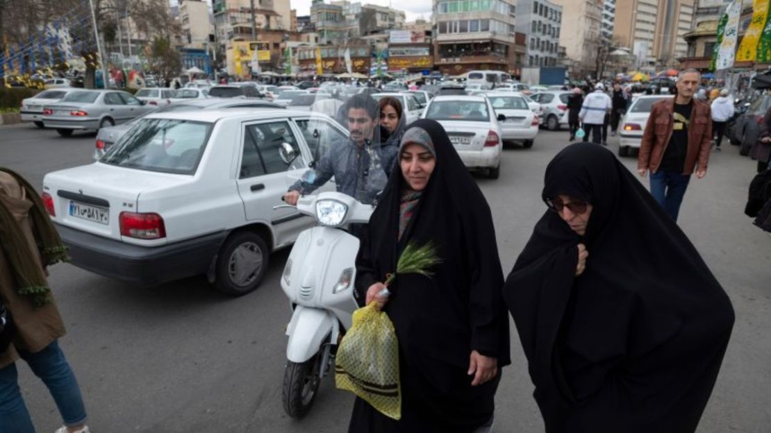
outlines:
[{"label": "grey building with grid of dark windows, right of the white one", "polygon": [[557,65],[560,46],[562,6],[548,0],[517,2],[517,32],[525,34],[525,66]]}]

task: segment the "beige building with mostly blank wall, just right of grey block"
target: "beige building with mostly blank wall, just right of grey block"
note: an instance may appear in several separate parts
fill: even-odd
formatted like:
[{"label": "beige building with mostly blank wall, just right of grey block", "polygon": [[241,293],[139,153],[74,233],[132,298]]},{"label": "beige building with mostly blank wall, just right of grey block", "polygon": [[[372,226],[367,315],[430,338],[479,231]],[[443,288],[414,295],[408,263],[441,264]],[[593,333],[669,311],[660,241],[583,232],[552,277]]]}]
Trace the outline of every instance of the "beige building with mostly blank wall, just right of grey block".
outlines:
[{"label": "beige building with mostly blank wall, just right of grey block", "polygon": [[[598,71],[597,59],[602,38],[603,0],[554,0],[562,6],[567,19],[562,22],[560,45],[570,64],[571,75],[594,76]],[[618,7],[618,5],[617,5]],[[618,17],[617,17],[618,18]],[[618,19],[616,21],[618,25]],[[557,49],[559,58],[559,49]]]}]

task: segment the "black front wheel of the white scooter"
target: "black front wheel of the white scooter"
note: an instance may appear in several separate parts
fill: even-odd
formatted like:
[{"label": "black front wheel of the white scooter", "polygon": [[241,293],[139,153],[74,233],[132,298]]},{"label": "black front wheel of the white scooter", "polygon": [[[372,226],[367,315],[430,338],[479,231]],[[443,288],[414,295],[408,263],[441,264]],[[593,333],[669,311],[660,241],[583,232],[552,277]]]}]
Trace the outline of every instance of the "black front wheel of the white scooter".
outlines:
[{"label": "black front wheel of the white scooter", "polygon": [[284,368],[284,411],[291,418],[302,418],[311,410],[311,405],[316,398],[318,384],[321,378],[318,375],[318,360],[320,354],[315,354],[305,362],[296,363],[287,361]]}]

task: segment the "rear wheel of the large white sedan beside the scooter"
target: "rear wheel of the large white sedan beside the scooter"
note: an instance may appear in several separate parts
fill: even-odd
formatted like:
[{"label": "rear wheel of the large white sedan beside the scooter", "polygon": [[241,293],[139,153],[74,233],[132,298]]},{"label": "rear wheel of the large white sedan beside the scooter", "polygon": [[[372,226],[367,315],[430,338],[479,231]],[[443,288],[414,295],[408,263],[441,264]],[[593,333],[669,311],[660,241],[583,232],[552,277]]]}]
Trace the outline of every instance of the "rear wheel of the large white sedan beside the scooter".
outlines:
[{"label": "rear wheel of the large white sedan beside the scooter", "polygon": [[217,254],[214,288],[223,294],[241,296],[256,289],[268,269],[268,245],[251,231],[231,234]]}]

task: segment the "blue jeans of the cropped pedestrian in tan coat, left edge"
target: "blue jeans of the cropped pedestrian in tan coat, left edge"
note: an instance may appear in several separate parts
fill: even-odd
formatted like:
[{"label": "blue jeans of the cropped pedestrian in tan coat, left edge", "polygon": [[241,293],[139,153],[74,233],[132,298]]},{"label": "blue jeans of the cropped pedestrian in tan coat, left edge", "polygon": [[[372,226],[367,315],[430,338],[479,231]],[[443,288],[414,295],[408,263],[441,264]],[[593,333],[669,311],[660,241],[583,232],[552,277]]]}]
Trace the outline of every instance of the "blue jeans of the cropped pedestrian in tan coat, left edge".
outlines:
[{"label": "blue jeans of the cropped pedestrian in tan coat, left edge", "polygon": [[[54,341],[35,354],[19,351],[29,368],[42,379],[56,401],[64,424],[69,427],[86,422],[86,408],[75,374]],[[29,411],[19,391],[19,373],[16,364],[0,368],[0,431],[2,433],[35,433]]]}]

